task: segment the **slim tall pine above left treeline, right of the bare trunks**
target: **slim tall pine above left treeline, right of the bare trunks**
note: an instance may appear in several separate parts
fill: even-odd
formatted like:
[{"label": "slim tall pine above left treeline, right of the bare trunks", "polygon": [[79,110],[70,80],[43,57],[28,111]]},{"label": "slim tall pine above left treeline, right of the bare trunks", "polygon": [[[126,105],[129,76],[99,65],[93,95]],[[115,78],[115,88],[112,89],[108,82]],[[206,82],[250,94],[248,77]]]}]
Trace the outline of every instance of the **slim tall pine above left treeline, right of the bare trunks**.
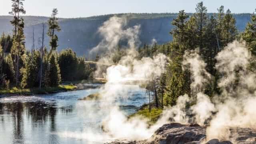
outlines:
[{"label": "slim tall pine above left treeline, right of the bare trunks", "polygon": [[[50,17],[50,19],[48,20],[48,26],[49,26],[49,30],[48,30],[48,36],[50,37],[50,46],[51,46],[51,52],[56,50],[58,47],[58,36],[55,34],[55,32],[60,32],[60,26],[58,24],[58,18],[56,17],[58,14],[58,10],[57,8],[54,8],[52,10],[52,15]],[[51,53],[50,52],[50,53]]]}]

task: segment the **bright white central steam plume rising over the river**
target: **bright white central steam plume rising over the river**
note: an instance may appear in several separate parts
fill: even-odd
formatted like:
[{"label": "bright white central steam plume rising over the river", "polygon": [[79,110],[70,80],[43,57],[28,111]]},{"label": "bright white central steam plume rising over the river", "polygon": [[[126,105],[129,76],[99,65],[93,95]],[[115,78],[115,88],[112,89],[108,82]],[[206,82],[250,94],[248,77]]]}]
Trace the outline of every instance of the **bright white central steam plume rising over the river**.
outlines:
[{"label": "bright white central steam plume rising over the river", "polygon": [[95,106],[94,102],[88,103],[86,101],[78,105],[90,120],[95,121],[98,120],[97,118],[103,118],[102,122],[97,124],[98,127],[102,126],[103,132],[101,130],[95,132],[95,126],[92,126],[92,128],[83,130],[82,134],[80,132],[63,132],[59,134],[60,136],[100,142],[115,139],[144,140],[152,136],[159,126],[166,123],[166,120],[162,120],[157,126],[148,128],[147,119],[140,116],[128,119],[116,102],[120,98],[124,100],[129,98],[131,89],[134,90],[138,85],[160,77],[167,62],[167,57],[164,54],[138,60],[136,49],[140,45],[138,40],[140,26],[125,28],[127,22],[126,17],[114,16],[99,28],[103,40],[92,49],[91,53],[105,52],[106,54],[98,63],[113,64],[113,53],[118,50],[118,44],[122,40],[127,40],[126,55],[118,63],[108,66],[104,74],[102,74],[104,71],[102,66],[98,66],[96,75],[102,74],[107,80],[107,83],[100,88],[100,100],[95,101],[98,106]]}]

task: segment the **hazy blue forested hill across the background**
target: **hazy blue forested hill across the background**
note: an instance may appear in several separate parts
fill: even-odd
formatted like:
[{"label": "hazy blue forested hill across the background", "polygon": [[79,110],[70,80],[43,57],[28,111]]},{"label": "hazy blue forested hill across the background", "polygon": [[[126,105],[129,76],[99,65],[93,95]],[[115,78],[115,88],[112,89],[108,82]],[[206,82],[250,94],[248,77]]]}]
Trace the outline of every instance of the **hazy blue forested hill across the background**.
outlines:
[{"label": "hazy blue forested hill across the background", "polygon": [[[130,18],[128,26],[140,24],[140,41],[142,44],[150,44],[155,38],[158,44],[166,43],[172,40],[169,32],[172,29],[171,22],[176,18],[176,13],[162,14],[115,14],[117,16],[128,15]],[[191,15],[191,14],[190,14]],[[210,14],[211,15],[211,14]],[[87,54],[88,51],[96,46],[101,38],[97,33],[98,28],[108,20],[113,14],[103,16],[92,16],[88,18],[60,18],[59,24],[62,28],[58,33],[59,47],[72,48],[78,55]],[[250,14],[234,14],[236,25],[239,31],[243,31],[246,23],[250,20]],[[10,24],[12,16],[0,16],[0,32],[12,33],[13,26]],[[34,28],[36,44],[42,34],[42,23],[47,22],[48,17],[42,16],[24,16],[26,48],[32,47],[32,30]],[[47,24],[46,24],[47,25]],[[47,32],[47,31],[46,31]],[[46,45],[49,39],[46,38]],[[48,45],[47,45],[48,46]]]}]

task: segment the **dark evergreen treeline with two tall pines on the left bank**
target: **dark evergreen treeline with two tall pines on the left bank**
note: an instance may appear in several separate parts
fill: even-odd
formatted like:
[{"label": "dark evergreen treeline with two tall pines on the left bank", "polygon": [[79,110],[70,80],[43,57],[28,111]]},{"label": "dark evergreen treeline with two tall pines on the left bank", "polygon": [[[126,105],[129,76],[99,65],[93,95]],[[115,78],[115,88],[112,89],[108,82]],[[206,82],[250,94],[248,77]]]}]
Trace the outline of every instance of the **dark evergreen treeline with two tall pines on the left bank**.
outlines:
[{"label": "dark evergreen treeline with two tall pines on the left bank", "polygon": [[45,24],[42,24],[42,46],[33,45],[31,51],[25,48],[24,20],[20,16],[25,14],[24,0],[11,0],[13,15],[11,24],[14,26],[13,35],[2,34],[0,38],[0,89],[8,89],[13,86],[21,88],[55,87],[61,81],[84,80],[92,77],[90,66],[85,63],[85,58],[77,57],[71,49],[63,50],[58,54],[58,36],[60,26],[58,24],[58,10],[53,9],[48,20],[48,32],[50,37],[50,50],[44,45]]}]

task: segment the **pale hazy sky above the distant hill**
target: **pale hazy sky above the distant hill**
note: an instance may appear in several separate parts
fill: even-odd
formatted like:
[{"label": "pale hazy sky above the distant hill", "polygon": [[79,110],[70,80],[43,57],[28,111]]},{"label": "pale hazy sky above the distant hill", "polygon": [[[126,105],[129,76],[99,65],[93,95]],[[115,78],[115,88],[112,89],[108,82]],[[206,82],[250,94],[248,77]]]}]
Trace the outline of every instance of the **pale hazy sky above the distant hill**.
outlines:
[{"label": "pale hazy sky above the distant hill", "polygon": [[[8,15],[11,0],[0,0],[0,15]],[[50,16],[52,8],[58,8],[59,17],[75,18],[115,13],[195,12],[202,0],[25,0],[26,15]],[[208,12],[224,5],[233,13],[252,13],[256,0],[203,0]]]}]

